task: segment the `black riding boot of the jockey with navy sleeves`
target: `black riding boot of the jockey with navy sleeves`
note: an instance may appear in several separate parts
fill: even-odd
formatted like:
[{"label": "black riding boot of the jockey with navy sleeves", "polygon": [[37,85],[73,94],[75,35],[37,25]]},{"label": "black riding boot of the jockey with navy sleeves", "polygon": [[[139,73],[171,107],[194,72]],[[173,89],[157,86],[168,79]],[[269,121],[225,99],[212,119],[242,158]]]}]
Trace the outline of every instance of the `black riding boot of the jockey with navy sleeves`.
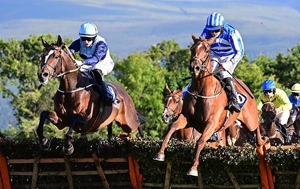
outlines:
[{"label": "black riding boot of the jockey with navy sleeves", "polygon": [[97,90],[97,92],[102,97],[104,104],[107,105],[107,106],[111,106],[112,96],[110,95],[110,93],[108,93],[108,88],[107,88],[107,84],[106,84],[105,79],[104,79],[104,75],[102,74],[102,71],[99,70],[99,69],[95,69],[95,71],[97,71],[100,75],[100,77],[96,77],[96,82],[99,85],[96,85],[95,89]]}]

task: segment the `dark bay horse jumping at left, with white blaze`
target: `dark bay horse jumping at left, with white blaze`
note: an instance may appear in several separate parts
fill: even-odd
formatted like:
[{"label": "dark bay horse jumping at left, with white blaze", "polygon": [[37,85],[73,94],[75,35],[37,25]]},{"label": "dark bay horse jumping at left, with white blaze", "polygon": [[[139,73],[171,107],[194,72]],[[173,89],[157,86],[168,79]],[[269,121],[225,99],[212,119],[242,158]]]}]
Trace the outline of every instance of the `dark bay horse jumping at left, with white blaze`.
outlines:
[{"label": "dark bay horse jumping at left, with white blaze", "polygon": [[131,133],[138,130],[139,135],[143,136],[141,124],[144,119],[136,112],[131,97],[123,87],[108,82],[116,92],[118,101],[111,106],[103,105],[100,103],[99,94],[91,87],[94,83],[78,71],[79,67],[62,50],[60,35],[56,43],[48,44],[42,38],[41,42],[44,49],[37,72],[38,80],[42,85],[46,85],[50,79],[59,77],[59,87],[53,98],[54,110],[40,113],[36,133],[41,148],[50,146],[48,138],[43,136],[43,125],[46,119],[59,130],[69,127],[63,145],[63,153],[66,155],[73,152],[71,143],[73,130],[78,133],[96,132],[108,126],[108,132],[111,132],[109,130],[112,121],[115,121],[124,132]]}]

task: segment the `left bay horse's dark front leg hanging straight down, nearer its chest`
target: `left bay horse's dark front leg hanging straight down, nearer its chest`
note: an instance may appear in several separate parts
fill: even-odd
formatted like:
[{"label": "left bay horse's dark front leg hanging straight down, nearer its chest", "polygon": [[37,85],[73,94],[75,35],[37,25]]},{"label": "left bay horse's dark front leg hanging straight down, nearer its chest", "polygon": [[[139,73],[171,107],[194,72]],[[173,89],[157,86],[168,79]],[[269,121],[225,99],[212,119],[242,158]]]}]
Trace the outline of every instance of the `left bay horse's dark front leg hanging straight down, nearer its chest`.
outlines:
[{"label": "left bay horse's dark front leg hanging straight down, nearer its chest", "polygon": [[70,116],[70,125],[69,125],[69,129],[65,135],[65,143],[62,148],[62,152],[65,155],[70,155],[74,151],[74,147],[72,145],[73,127],[74,127],[75,123],[78,121],[78,119],[79,119],[79,114],[72,114]]}]

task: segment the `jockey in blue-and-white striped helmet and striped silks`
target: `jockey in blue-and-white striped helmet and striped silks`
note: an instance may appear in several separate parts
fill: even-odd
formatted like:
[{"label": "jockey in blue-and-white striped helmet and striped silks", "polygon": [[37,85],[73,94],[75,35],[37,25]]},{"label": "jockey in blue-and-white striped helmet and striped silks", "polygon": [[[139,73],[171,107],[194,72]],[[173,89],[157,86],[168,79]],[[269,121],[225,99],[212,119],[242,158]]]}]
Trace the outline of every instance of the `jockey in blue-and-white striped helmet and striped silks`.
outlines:
[{"label": "jockey in blue-and-white striped helmet and striped silks", "polygon": [[224,22],[222,14],[213,12],[207,17],[201,37],[206,39],[215,37],[210,45],[211,71],[222,69],[220,72],[221,79],[226,85],[225,88],[228,89],[227,92],[230,97],[227,109],[239,112],[240,107],[236,99],[235,85],[230,75],[244,54],[243,42],[239,32],[236,28]]}]

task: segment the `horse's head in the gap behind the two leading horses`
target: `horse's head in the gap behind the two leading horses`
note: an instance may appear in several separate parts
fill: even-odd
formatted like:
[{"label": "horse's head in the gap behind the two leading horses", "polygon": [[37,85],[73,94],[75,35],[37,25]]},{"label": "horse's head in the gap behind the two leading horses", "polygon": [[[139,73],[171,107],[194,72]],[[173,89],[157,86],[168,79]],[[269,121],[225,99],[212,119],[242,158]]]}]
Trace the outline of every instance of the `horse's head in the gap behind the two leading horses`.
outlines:
[{"label": "horse's head in the gap behind the two leading horses", "polygon": [[164,109],[161,115],[163,123],[169,123],[173,118],[177,117],[182,109],[182,90],[171,91],[165,86],[167,95],[164,98]]}]

